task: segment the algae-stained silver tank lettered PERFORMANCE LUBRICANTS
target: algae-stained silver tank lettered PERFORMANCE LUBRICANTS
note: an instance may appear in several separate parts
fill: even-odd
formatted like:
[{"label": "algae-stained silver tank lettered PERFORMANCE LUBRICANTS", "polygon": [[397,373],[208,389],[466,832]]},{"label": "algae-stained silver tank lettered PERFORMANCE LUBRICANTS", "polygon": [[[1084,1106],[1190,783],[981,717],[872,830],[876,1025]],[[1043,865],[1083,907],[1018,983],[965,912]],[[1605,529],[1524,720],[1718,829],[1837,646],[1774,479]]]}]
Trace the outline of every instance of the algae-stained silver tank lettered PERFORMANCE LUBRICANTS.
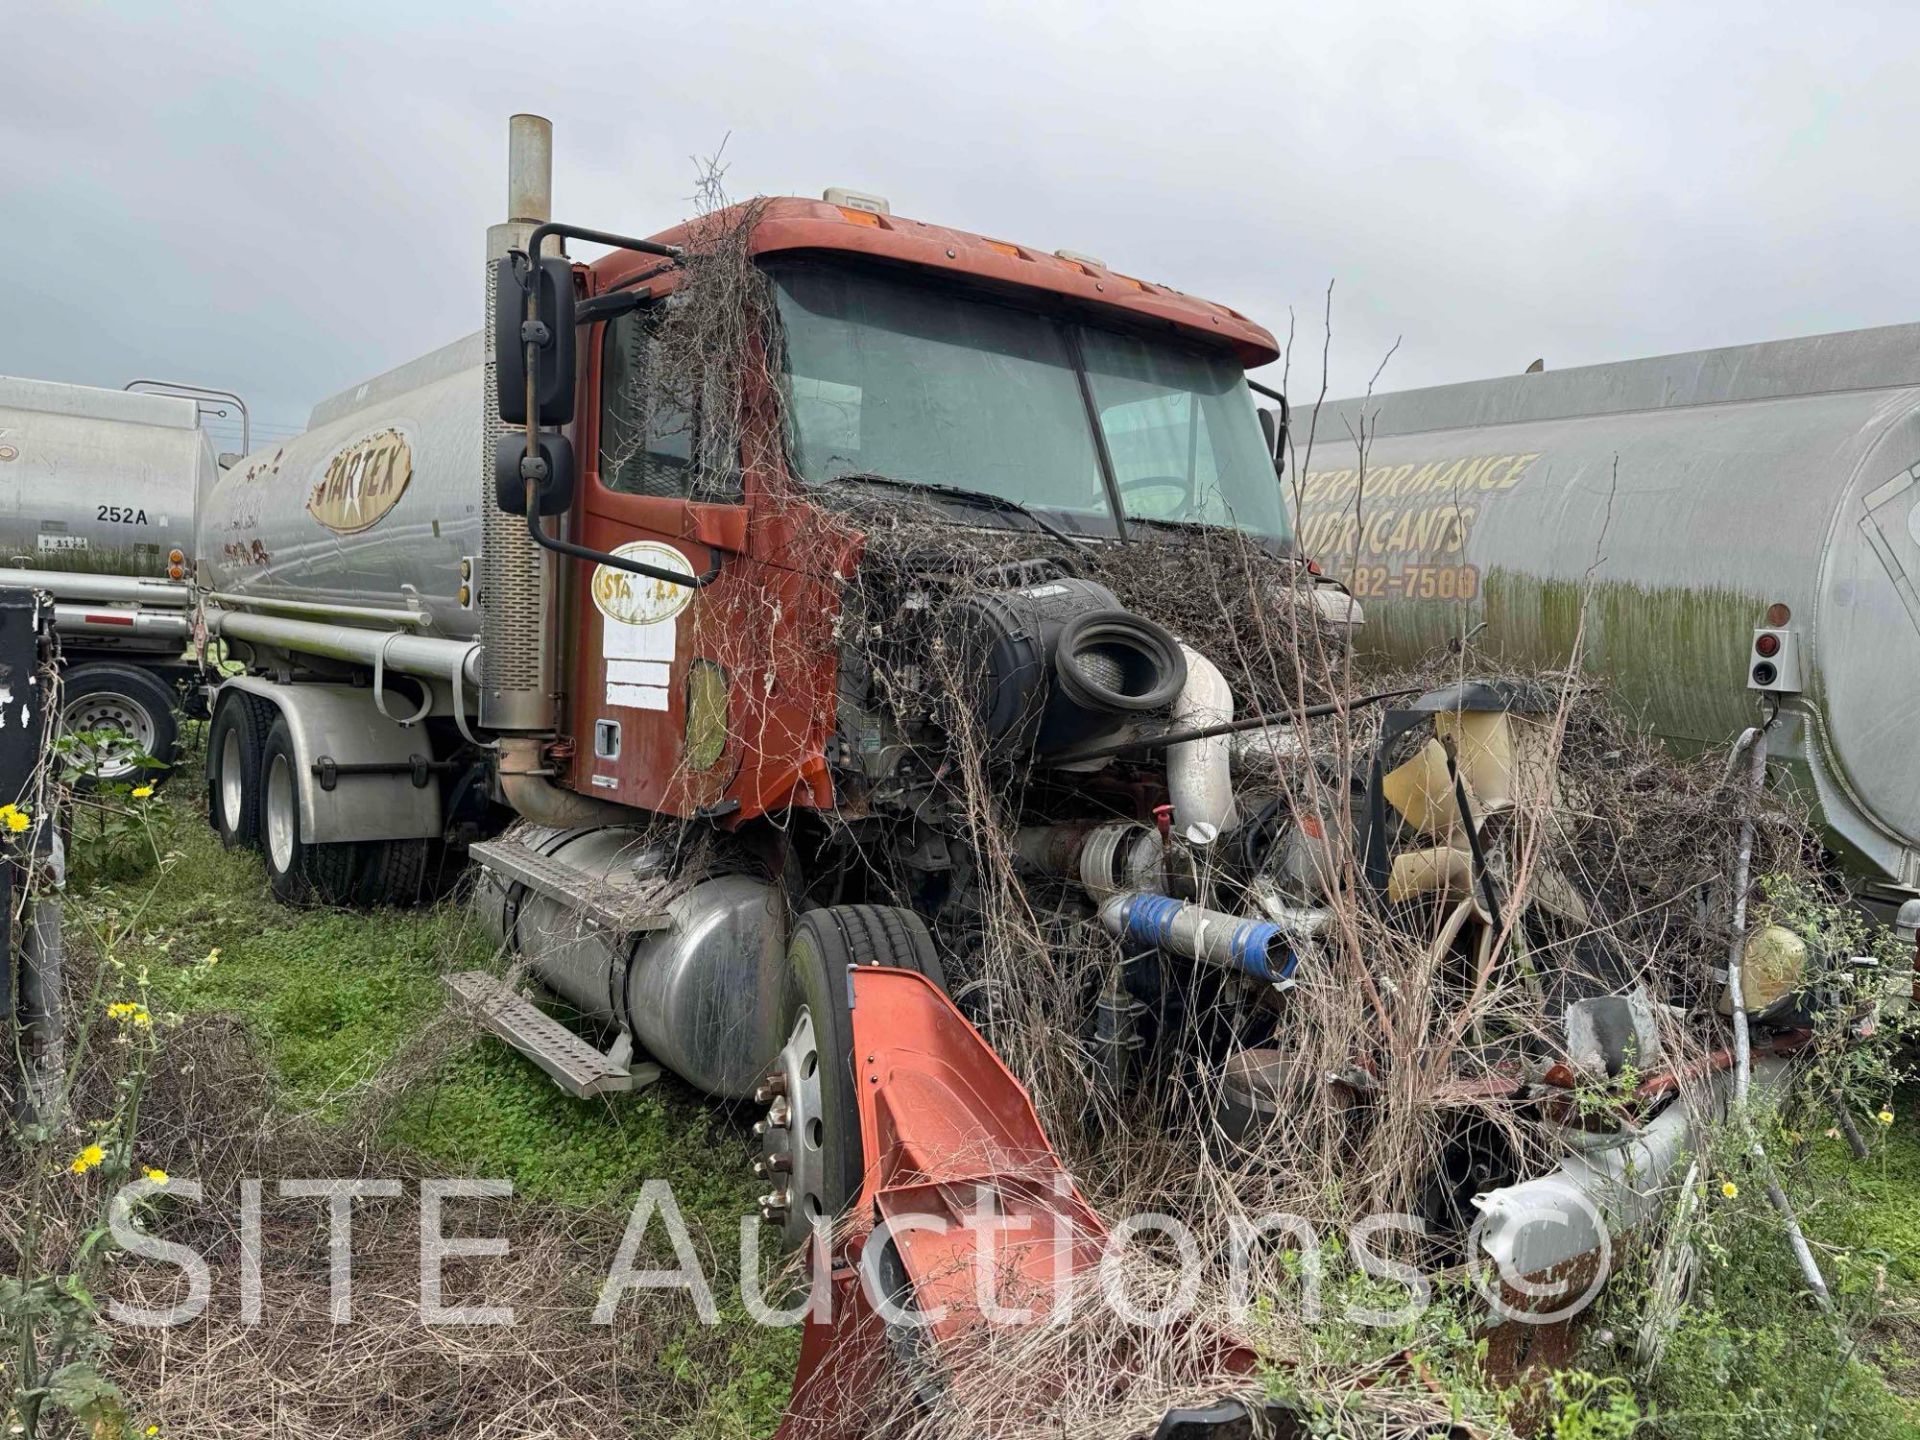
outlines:
[{"label": "algae-stained silver tank lettered PERFORMANCE LUBRICANTS", "polygon": [[1300,543],[1367,647],[1484,626],[1551,664],[1590,584],[1588,670],[1699,749],[1759,714],[1753,630],[1789,607],[1805,693],[1774,753],[1860,870],[1920,887],[1920,324],[1342,401],[1315,430]]}]

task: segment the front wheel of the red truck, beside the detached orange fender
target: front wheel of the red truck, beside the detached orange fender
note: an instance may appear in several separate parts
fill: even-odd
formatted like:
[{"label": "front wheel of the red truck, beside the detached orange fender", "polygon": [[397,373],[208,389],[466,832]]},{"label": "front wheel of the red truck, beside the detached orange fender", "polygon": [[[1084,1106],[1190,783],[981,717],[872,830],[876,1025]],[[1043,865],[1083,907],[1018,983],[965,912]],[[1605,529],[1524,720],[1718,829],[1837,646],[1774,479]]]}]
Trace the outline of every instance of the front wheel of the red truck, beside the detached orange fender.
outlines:
[{"label": "front wheel of the red truck, beside the detached orange fender", "polygon": [[858,1198],[866,1173],[849,966],[897,966],[947,987],[933,937],[912,910],[835,904],[808,910],[793,925],[787,979],[797,1010],[768,1075],[762,1131],[772,1181],[762,1213],[781,1223],[789,1248],[806,1242],[814,1219],[837,1219]]}]

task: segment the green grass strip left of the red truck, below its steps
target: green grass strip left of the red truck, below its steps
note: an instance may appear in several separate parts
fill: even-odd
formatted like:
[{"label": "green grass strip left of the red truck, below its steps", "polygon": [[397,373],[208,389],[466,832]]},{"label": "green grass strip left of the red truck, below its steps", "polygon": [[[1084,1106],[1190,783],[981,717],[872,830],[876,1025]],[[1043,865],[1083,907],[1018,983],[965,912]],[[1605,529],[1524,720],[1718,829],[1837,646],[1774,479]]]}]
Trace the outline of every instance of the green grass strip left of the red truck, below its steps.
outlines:
[{"label": "green grass strip left of the red truck, below its steps", "polygon": [[[94,870],[113,883],[71,895],[73,924],[129,927],[117,954],[146,970],[156,1014],[238,1018],[271,1062],[278,1106],[349,1123],[357,1087],[405,1060],[445,1006],[440,977],[493,964],[493,943],[453,900],[378,912],[276,904],[259,858],[225,852],[196,797],[182,774],[150,803],[152,839],[121,839]],[[157,887],[156,851],[169,856]],[[219,960],[196,968],[215,948]],[[576,1210],[584,1229],[614,1236],[641,1183],[670,1181],[722,1323],[701,1327],[684,1300],[645,1311],[628,1300],[622,1323],[680,1327],[662,1334],[660,1357],[695,1398],[678,1421],[636,1415],[634,1428],[653,1436],[666,1421],[685,1440],[732,1440],[774,1430],[799,1356],[797,1329],[753,1325],[737,1300],[737,1221],[762,1188],[747,1119],[672,1077],[634,1096],[574,1100],[493,1037],[467,1035],[407,1081],[376,1140],[440,1173],[511,1179],[515,1196]],[[659,1254],[672,1263],[664,1244]],[[597,1256],[611,1260],[611,1246]]]}]

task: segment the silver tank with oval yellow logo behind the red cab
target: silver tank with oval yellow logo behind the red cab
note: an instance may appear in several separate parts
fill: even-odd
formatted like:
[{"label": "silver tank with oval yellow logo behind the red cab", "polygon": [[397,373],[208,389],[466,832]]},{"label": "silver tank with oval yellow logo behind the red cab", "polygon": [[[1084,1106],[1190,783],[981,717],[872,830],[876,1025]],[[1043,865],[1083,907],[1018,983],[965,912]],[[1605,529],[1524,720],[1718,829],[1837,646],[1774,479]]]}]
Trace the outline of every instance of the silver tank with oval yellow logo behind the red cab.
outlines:
[{"label": "silver tank with oval yellow logo behind the red cab", "polygon": [[227,468],[202,507],[202,584],[217,603],[344,624],[409,612],[413,634],[478,637],[482,380],[474,334]]}]

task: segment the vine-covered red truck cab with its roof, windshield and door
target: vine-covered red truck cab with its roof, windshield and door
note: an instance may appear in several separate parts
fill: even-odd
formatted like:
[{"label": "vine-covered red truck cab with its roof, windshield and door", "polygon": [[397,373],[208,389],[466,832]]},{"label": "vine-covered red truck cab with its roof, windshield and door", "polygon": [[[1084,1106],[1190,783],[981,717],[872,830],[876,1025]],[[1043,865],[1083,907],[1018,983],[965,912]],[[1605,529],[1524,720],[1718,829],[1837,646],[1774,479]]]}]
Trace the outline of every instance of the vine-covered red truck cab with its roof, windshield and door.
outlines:
[{"label": "vine-covered red truck cab with its roof, windshield and door", "polygon": [[[588,313],[643,300],[580,330],[570,532],[720,574],[695,589],[570,563],[576,793],[737,822],[833,804],[839,589],[862,549],[845,501],[862,493],[1069,547],[1192,526],[1290,545],[1244,376],[1277,355],[1263,328],[862,202],[755,202],[655,236],[687,265],[614,252],[578,271]],[[743,253],[699,259],[714,250]],[[703,263],[751,263],[774,315],[737,390],[689,413],[662,371],[689,361],[672,315]]]}]

